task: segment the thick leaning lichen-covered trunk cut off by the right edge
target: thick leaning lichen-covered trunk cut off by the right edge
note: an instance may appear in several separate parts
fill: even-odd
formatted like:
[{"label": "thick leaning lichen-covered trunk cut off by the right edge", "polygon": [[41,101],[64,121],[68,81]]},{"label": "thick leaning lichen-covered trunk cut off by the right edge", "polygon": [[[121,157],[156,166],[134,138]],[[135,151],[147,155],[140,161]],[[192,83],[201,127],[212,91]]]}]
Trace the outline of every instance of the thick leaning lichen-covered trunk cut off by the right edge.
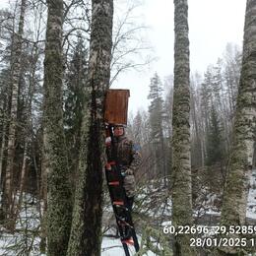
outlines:
[{"label": "thick leaning lichen-covered trunk cut off by the right edge", "polygon": [[[256,0],[247,0],[241,76],[224,187],[222,224],[245,224],[256,122]],[[237,248],[224,248],[235,253]]]}]

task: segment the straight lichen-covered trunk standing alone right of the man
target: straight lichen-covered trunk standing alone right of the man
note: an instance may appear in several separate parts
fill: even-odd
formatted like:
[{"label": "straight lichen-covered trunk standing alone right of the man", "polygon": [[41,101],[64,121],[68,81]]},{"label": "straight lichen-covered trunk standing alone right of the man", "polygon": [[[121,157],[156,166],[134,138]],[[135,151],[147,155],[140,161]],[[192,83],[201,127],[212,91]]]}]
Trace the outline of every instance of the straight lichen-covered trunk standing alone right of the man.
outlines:
[{"label": "straight lichen-covered trunk standing alone right of the man", "polygon": [[[187,0],[174,0],[174,95],[172,116],[172,222],[192,224],[190,86]],[[189,236],[175,236],[174,255],[196,255]]]}]

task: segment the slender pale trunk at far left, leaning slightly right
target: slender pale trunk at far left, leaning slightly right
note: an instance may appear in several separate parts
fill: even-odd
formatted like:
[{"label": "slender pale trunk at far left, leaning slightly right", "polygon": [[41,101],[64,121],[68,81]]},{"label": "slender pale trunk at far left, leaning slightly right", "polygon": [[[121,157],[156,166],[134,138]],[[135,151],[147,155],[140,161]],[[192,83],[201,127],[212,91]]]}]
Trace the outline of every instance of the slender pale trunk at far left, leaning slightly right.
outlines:
[{"label": "slender pale trunk at far left, leaning slightly right", "polygon": [[4,215],[6,220],[12,219],[12,201],[13,201],[13,172],[15,157],[15,142],[17,130],[17,110],[18,110],[18,94],[19,82],[21,75],[21,56],[23,47],[24,21],[27,0],[21,1],[21,12],[19,20],[18,33],[13,34],[13,47],[11,57],[11,115],[9,125],[8,147],[7,147],[7,164],[5,174],[5,190],[4,190]]}]

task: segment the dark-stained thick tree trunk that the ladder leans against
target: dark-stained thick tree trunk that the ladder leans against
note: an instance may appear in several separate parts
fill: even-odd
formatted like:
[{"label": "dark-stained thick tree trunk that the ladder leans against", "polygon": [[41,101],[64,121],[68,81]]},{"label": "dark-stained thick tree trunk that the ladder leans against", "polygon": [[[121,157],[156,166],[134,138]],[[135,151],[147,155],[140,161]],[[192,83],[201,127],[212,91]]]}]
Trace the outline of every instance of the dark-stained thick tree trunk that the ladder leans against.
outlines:
[{"label": "dark-stained thick tree trunk that the ladder leans against", "polygon": [[104,155],[103,103],[109,85],[112,46],[112,0],[93,0],[88,90],[72,231],[68,255],[100,255],[102,162]]}]

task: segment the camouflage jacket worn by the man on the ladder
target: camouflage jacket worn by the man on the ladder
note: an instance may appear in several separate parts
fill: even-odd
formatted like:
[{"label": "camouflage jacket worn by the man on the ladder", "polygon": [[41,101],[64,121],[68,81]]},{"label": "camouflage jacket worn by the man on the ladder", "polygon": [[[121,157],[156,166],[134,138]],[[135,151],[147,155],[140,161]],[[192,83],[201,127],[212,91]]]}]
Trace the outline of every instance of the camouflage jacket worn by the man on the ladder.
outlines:
[{"label": "camouflage jacket worn by the man on the ladder", "polygon": [[142,162],[140,147],[126,136],[114,137],[111,146],[107,148],[107,160],[116,160],[124,169],[136,171]]}]

